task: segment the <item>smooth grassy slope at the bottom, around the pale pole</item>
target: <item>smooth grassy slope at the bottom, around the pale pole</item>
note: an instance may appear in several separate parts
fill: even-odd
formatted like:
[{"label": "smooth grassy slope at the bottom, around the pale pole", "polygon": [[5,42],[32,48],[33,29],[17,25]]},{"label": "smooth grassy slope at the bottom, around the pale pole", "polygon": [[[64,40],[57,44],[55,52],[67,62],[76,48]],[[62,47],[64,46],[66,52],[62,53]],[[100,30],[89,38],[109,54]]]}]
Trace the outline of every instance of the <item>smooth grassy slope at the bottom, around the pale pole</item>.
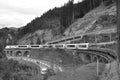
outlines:
[{"label": "smooth grassy slope at the bottom, around the pale pole", "polygon": [[[105,65],[99,64],[99,74],[104,70]],[[55,76],[50,77],[48,80],[97,80],[96,63],[83,65],[76,69],[71,69]]]}]

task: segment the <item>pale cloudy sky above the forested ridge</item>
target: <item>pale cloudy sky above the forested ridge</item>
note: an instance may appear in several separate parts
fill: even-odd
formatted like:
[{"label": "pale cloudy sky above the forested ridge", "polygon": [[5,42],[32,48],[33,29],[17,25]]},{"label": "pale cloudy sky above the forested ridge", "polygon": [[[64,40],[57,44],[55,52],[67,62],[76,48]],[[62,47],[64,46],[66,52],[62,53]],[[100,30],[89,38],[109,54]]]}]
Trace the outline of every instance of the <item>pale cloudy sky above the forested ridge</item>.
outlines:
[{"label": "pale cloudy sky above the forested ridge", "polygon": [[[69,0],[0,0],[0,28],[22,27],[35,17]],[[74,3],[81,0],[74,0]]]}]

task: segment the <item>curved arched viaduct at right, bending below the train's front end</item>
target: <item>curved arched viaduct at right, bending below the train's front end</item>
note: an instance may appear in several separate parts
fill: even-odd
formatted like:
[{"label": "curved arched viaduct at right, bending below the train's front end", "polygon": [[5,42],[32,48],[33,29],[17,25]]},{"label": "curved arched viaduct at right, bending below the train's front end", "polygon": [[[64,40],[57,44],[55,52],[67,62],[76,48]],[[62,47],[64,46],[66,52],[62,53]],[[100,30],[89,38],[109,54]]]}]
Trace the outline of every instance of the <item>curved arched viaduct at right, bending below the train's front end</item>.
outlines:
[{"label": "curved arched viaduct at right, bending below the train's front end", "polygon": [[[102,63],[109,63],[116,59],[116,55],[111,50],[105,49],[88,49],[88,50],[76,50],[76,54],[85,55],[85,58],[89,59],[89,62],[97,62],[97,59]],[[80,57],[83,57],[80,55]]]}]

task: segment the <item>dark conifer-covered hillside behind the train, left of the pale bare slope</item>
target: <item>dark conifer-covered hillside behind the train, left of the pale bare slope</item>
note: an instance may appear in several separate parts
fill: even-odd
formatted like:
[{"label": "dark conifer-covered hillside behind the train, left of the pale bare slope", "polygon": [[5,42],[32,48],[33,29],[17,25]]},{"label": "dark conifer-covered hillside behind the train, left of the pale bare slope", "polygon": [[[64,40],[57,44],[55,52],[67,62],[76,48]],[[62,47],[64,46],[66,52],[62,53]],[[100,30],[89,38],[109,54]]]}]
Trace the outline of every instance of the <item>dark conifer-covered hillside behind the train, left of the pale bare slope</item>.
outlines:
[{"label": "dark conifer-covered hillside behind the train, left of the pale bare slope", "polygon": [[73,4],[73,0],[62,7],[55,7],[37,17],[26,26],[18,29],[17,44],[36,44],[56,40],[64,36],[69,26],[82,18],[89,11],[100,5],[110,5],[115,0],[83,0]]}]

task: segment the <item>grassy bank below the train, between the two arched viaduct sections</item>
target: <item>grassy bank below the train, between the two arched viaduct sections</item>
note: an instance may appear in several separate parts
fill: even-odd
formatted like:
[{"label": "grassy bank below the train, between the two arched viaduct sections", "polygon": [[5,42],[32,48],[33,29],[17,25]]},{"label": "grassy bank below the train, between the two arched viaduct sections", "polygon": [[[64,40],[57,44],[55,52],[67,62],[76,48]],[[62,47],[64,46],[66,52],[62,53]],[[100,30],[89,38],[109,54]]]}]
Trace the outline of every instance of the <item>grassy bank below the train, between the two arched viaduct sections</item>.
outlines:
[{"label": "grassy bank below the train, between the two arched viaduct sections", "polygon": [[31,58],[45,60],[59,65],[77,65],[80,64],[79,58],[73,56],[72,50],[64,49],[40,49],[32,50]]}]

